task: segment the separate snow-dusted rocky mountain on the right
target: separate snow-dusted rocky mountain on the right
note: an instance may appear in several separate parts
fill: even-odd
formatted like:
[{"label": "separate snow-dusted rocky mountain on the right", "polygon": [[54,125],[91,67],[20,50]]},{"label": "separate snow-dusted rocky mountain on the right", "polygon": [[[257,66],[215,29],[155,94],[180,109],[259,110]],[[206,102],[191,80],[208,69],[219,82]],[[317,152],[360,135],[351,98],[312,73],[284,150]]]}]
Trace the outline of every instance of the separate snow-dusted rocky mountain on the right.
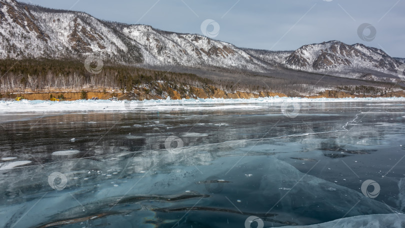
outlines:
[{"label": "separate snow-dusted rocky mountain on the right", "polygon": [[397,68],[403,63],[381,49],[336,40],[303,45],[289,52],[251,50],[249,53],[290,69],[382,81],[398,79]]}]

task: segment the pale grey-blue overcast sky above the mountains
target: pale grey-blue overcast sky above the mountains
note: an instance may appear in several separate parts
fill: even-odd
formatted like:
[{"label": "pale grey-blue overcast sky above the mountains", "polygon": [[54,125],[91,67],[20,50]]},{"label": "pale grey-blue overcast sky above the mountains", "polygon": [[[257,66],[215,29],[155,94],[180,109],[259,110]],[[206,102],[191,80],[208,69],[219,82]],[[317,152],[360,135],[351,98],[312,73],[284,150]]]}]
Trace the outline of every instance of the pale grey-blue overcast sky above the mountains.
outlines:
[{"label": "pale grey-blue overcast sky above the mountains", "polygon": [[[212,19],[219,25],[214,38],[240,47],[292,50],[336,39],[405,57],[405,0],[20,1],[184,33],[202,34],[201,23]],[[361,27],[360,37],[357,30],[363,23],[368,25]]]}]

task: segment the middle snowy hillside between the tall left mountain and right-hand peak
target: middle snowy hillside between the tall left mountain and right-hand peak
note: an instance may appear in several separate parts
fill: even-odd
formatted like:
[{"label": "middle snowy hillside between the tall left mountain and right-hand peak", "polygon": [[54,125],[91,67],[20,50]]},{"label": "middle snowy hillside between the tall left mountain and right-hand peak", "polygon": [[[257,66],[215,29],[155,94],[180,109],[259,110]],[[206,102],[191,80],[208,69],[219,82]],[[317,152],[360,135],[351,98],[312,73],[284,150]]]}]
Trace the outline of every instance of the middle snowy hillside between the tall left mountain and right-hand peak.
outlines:
[{"label": "middle snowy hillside between the tall left mountain and right-hand peak", "polygon": [[253,71],[264,68],[234,45],[201,35],[162,32],[147,25],[125,26],[122,32],[139,42],[159,65],[208,65]]}]

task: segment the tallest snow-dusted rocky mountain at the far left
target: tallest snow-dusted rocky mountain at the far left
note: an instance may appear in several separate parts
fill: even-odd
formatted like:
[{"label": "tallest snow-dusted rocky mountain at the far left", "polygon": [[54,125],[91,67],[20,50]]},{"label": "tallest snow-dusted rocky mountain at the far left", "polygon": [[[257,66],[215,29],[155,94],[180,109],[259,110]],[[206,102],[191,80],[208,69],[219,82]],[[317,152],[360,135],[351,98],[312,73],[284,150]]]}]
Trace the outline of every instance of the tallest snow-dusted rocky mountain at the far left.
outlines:
[{"label": "tallest snow-dusted rocky mountain at the far left", "polygon": [[15,0],[0,0],[1,58],[79,58],[143,61],[136,41],[82,12],[43,11]]}]

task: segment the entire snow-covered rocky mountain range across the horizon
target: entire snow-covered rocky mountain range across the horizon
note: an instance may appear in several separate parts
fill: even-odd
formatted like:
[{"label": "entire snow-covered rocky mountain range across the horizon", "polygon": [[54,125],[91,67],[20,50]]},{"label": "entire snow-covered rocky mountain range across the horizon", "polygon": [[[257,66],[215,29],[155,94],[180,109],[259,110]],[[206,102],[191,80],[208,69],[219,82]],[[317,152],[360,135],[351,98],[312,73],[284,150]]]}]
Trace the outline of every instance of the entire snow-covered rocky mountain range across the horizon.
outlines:
[{"label": "entire snow-covered rocky mountain range across the horizon", "polygon": [[84,12],[0,0],[0,58],[83,59],[86,55],[140,66],[259,72],[281,67],[371,80],[392,80],[403,63],[362,44],[328,41],[295,51],[245,49],[198,34],[107,22]]}]

